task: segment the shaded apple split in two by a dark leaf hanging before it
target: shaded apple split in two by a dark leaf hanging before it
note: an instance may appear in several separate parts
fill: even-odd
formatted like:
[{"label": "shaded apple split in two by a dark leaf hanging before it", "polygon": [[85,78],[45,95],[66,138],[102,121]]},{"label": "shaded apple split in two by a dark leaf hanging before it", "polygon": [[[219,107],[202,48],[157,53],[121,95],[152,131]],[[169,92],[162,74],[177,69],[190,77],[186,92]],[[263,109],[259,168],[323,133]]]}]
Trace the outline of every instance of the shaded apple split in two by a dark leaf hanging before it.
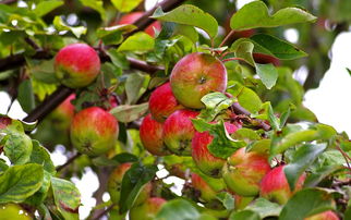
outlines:
[{"label": "shaded apple split in two by a dark leaf hanging before it", "polygon": [[[132,167],[132,163],[125,162],[118,166],[110,174],[108,182],[107,182],[107,191],[110,194],[111,201],[113,204],[118,204],[121,196],[121,186],[122,180],[125,172]],[[152,184],[147,183],[143,186],[141,193],[136,197],[134,206],[143,204],[148,197],[152,192]]]}]

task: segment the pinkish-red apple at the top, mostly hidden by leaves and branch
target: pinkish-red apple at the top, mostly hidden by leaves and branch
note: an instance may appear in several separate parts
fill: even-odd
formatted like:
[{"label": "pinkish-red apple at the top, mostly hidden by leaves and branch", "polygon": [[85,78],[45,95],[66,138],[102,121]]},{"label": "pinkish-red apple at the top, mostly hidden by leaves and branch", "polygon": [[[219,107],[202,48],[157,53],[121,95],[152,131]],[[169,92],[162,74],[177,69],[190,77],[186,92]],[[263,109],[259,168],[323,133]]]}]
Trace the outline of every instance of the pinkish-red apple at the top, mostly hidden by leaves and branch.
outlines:
[{"label": "pinkish-red apple at the top, mostly hidden by leaves and branch", "polygon": [[[132,12],[132,13],[125,14],[125,15],[121,16],[120,21],[112,22],[112,24],[110,26],[121,25],[121,24],[133,24],[141,16],[143,16],[143,14],[144,14],[143,12]],[[161,29],[161,23],[158,22],[158,21],[152,23],[150,25],[148,25],[145,28],[145,33],[148,34],[152,37],[155,37],[154,28],[157,29],[157,30],[160,30]]]}]

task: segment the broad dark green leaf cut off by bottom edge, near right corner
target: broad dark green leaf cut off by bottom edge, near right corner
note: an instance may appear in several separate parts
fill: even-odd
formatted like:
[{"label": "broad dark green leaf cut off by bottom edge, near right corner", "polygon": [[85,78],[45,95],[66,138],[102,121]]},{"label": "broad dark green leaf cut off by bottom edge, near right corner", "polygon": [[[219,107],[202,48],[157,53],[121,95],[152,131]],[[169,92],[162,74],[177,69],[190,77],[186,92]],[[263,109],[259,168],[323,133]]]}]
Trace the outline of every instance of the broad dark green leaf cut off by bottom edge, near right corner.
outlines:
[{"label": "broad dark green leaf cut off by bottom edge, near right corner", "polygon": [[305,188],[295,193],[282,208],[280,220],[304,219],[318,212],[335,209],[332,196],[320,188]]}]

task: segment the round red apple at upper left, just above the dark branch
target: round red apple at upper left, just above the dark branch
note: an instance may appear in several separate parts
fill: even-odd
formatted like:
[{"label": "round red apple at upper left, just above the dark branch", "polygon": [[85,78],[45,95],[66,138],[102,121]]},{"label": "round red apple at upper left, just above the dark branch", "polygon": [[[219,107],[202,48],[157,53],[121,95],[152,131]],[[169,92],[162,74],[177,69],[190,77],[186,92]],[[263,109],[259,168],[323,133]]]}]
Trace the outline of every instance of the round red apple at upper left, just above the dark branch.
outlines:
[{"label": "round red apple at upper left, just above the dark branch", "polygon": [[72,44],[62,48],[55,58],[57,78],[70,88],[85,87],[100,72],[100,58],[86,44]]}]

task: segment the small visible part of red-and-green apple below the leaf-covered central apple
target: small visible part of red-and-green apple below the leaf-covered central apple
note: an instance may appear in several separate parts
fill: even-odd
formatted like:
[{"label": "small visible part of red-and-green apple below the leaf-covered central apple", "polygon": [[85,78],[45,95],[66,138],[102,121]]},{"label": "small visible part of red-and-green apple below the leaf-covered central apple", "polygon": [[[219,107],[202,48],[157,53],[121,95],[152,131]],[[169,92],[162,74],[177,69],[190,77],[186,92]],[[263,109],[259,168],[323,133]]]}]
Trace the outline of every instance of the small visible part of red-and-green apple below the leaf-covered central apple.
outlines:
[{"label": "small visible part of red-and-green apple below the leaf-covered central apple", "polygon": [[199,192],[198,197],[203,201],[216,199],[217,193],[196,173],[192,173],[192,185],[197,192]]}]

